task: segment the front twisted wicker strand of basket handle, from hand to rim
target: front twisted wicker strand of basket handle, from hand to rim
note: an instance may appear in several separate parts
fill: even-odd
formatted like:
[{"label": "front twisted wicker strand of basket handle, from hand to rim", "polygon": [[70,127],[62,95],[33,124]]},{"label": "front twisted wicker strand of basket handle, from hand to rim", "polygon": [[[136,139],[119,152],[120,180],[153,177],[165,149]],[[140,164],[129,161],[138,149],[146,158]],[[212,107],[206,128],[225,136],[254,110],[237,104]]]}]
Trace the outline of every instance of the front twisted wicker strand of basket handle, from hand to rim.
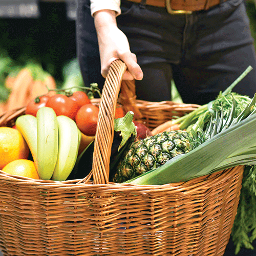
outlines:
[{"label": "front twisted wicker strand of basket handle, from hand to rim", "polygon": [[126,65],[120,59],[111,63],[99,104],[99,116],[93,152],[94,184],[109,183],[111,146],[114,137],[114,119],[118,94]]}]

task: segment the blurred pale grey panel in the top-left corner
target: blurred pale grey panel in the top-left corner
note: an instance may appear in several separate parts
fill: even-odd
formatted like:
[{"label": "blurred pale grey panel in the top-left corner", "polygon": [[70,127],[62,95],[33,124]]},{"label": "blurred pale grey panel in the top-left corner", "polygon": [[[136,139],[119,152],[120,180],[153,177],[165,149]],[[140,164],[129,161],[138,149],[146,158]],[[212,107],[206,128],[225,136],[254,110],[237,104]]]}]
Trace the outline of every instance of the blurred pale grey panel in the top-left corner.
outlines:
[{"label": "blurred pale grey panel in the top-left corner", "polygon": [[36,18],[37,0],[0,0],[0,18]]}]

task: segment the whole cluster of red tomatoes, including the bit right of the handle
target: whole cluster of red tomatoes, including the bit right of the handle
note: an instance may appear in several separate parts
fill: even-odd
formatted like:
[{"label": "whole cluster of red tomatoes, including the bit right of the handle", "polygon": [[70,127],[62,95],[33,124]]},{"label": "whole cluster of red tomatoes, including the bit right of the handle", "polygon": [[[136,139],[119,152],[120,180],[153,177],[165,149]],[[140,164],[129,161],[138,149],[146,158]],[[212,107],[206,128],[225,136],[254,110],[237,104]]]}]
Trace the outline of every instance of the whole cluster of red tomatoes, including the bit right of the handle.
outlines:
[{"label": "whole cluster of red tomatoes, including the bit right of the handle", "polygon": [[[84,135],[95,136],[99,107],[91,102],[86,92],[75,91],[66,94],[39,96],[27,104],[25,113],[36,116],[38,109],[42,106],[52,108],[57,116],[65,115],[73,119]],[[115,118],[123,116],[124,112],[119,106],[116,109]]]}]

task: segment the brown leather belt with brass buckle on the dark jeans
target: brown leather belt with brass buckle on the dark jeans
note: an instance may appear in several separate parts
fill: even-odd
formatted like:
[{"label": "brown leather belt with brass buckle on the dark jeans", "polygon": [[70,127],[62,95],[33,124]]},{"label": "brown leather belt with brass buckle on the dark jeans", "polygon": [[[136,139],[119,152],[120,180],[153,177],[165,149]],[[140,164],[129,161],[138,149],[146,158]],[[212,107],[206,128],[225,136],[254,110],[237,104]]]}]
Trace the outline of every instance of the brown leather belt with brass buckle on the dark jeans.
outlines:
[{"label": "brown leather belt with brass buckle on the dark jeans", "polygon": [[[126,0],[141,3],[141,0]],[[146,5],[165,7],[172,14],[191,14],[194,11],[208,10],[209,8],[227,0],[146,0]]]}]

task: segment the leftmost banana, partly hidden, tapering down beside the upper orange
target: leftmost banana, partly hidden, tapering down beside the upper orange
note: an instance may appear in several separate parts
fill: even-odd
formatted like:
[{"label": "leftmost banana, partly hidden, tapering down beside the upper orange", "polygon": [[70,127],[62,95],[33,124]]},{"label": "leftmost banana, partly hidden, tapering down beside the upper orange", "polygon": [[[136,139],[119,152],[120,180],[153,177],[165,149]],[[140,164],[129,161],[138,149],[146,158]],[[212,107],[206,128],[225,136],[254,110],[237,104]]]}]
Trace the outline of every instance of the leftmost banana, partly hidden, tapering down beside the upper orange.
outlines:
[{"label": "leftmost banana, partly hidden, tapering down beside the upper orange", "polygon": [[37,132],[36,117],[32,115],[19,116],[15,122],[16,129],[22,134],[23,138],[29,146],[29,150],[33,157],[37,168]]}]

